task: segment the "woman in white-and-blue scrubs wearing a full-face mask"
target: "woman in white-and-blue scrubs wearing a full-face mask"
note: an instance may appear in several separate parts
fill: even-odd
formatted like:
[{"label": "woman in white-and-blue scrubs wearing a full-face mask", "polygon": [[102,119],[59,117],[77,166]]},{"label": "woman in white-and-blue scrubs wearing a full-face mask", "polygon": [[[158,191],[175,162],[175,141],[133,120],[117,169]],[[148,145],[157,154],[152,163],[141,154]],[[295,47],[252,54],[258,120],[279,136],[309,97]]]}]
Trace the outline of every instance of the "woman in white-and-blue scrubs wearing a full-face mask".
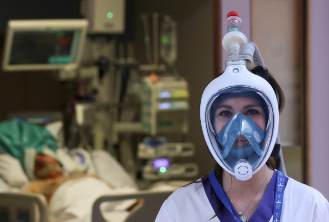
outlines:
[{"label": "woman in white-and-blue scrubs wearing a full-face mask", "polygon": [[201,99],[201,125],[215,170],[175,191],[156,221],[327,220],[324,196],[278,170],[283,107],[283,92],[266,68],[227,66]]}]

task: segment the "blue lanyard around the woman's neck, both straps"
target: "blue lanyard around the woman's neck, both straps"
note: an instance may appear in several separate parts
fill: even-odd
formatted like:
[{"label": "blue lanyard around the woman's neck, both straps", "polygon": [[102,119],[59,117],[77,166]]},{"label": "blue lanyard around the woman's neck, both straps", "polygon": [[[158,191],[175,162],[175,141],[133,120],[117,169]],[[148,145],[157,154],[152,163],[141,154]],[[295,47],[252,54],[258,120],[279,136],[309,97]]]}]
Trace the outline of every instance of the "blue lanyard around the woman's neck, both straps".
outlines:
[{"label": "blue lanyard around the woman's neck, both straps", "polygon": [[[231,209],[231,205],[229,204],[228,197],[215,176],[215,171],[213,170],[212,172],[210,172],[208,177],[211,186],[213,187],[216,195],[221,200],[225,208],[234,216],[236,220],[241,221],[240,218],[233,213]],[[288,178],[286,178],[286,176],[282,172],[277,170],[275,198],[274,198],[274,206],[273,206],[273,222],[280,221],[282,202],[283,202],[283,196],[286,188],[287,179]]]}]

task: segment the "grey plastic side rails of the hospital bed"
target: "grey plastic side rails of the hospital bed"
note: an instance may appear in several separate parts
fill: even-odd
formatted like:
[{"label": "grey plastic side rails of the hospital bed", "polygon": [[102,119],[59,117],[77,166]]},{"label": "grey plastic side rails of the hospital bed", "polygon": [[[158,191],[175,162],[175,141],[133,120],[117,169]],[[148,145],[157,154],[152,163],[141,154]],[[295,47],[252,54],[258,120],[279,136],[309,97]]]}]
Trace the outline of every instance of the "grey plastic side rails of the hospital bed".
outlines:
[{"label": "grey plastic side rails of the hospital bed", "polygon": [[[103,195],[92,206],[92,222],[153,222],[162,205],[173,190],[138,191],[135,193]],[[101,211],[101,204],[110,201],[136,199],[129,212],[112,214],[110,218]],[[0,222],[46,222],[47,207],[44,196],[27,193],[0,193]]]}]

